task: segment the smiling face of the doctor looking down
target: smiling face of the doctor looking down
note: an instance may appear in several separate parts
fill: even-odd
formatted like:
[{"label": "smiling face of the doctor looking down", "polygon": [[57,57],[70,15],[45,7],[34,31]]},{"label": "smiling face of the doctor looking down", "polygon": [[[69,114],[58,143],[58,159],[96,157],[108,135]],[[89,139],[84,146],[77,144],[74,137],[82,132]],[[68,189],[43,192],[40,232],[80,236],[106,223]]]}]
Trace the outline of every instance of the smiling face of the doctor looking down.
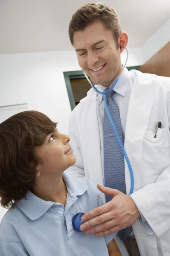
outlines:
[{"label": "smiling face of the doctor looking down", "polygon": [[122,70],[120,48],[112,31],[95,21],[83,31],[74,32],[73,44],[79,66],[91,81],[109,87]]}]

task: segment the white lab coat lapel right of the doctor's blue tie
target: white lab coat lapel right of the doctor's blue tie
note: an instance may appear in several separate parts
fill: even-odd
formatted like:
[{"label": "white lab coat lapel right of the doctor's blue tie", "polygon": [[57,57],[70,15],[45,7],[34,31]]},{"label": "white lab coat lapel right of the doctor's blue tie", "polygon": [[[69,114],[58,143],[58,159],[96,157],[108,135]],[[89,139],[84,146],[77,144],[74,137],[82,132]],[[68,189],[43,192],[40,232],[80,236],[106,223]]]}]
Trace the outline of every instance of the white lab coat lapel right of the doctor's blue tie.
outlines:
[{"label": "white lab coat lapel right of the doctor's blue tie", "polygon": [[[134,192],[144,185],[142,143],[155,98],[152,81],[135,79],[130,96],[125,130],[125,150],[134,176]],[[130,192],[130,172],[125,160],[127,194]]]}]

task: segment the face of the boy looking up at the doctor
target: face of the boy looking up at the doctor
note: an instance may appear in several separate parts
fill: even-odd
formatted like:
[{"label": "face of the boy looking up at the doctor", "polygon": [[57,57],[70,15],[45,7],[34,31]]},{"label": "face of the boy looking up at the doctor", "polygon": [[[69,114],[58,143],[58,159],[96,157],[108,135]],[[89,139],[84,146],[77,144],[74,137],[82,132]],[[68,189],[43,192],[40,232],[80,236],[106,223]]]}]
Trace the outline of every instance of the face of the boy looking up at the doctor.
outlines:
[{"label": "face of the boy looking up at the doctor", "polygon": [[70,137],[60,134],[57,129],[46,137],[44,143],[36,149],[36,154],[41,162],[37,169],[42,177],[59,177],[62,173],[76,162],[71,145]]}]

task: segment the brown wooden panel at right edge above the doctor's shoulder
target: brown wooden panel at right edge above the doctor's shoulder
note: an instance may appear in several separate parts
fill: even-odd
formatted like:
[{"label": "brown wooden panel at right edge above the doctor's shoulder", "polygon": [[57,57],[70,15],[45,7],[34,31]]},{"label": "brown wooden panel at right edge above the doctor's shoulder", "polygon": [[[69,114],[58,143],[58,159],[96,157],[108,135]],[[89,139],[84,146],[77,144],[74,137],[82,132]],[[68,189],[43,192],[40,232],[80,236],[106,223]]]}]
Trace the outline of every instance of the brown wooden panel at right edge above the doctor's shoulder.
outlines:
[{"label": "brown wooden panel at right edge above the doctor's shoulder", "polygon": [[170,42],[141,66],[139,71],[170,77]]}]

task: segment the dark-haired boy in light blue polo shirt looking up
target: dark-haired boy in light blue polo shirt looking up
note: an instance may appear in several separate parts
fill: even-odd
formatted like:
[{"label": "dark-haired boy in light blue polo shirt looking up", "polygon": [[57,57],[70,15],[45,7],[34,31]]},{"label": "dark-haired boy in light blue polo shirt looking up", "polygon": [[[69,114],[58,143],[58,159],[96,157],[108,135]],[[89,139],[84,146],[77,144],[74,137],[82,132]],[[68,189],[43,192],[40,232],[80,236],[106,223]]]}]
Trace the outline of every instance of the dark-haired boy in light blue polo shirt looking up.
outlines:
[{"label": "dark-haired boy in light blue polo shirt looking up", "polygon": [[120,256],[114,235],[73,229],[73,215],[102,200],[88,180],[63,173],[76,158],[56,125],[37,111],[0,124],[1,205],[11,206],[0,225],[0,256]]}]

